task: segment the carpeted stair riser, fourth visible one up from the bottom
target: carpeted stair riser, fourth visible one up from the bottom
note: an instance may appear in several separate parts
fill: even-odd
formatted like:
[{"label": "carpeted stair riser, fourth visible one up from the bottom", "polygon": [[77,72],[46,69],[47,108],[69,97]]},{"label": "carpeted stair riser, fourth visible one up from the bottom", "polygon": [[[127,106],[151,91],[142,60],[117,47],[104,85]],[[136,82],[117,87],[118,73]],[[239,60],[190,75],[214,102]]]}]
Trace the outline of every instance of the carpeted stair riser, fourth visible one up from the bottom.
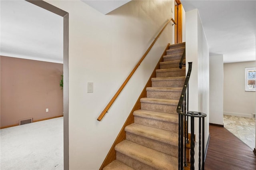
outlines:
[{"label": "carpeted stair riser, fourth visible one up from the bottom", "polygon": [[147,110],[147,111],[156,111],[156,112],[177,114],[176,113],[177,105],[161,105],[161,104],[155,104],[155,103],[141,103],[141,109]]}]

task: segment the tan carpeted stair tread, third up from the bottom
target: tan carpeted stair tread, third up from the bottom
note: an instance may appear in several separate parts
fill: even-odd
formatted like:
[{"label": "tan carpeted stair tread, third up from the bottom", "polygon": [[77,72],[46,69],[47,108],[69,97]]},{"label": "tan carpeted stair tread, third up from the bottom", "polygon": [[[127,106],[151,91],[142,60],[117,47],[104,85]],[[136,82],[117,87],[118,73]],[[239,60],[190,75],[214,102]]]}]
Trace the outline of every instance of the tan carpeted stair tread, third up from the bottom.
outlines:
[{"label": "tan carpeted stair tread, third up from the bottom", "polygon": [[131,125],[125,127],[125,131],[157,140],[159,142],[164,142],[166,144],[178,146],[178,133],[170,132],[168,130],[132,123]]}]

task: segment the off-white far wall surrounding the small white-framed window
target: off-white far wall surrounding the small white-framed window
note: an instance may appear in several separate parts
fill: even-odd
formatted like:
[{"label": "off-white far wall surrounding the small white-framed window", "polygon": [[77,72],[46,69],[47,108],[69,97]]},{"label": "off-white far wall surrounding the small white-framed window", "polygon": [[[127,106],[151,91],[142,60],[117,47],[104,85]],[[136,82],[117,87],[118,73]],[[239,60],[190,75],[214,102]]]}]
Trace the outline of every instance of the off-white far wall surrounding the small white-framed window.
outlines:
[{"label": "off-white far wall surrounding the small white-framed window", "polygon": [[255,91],[245,91],[245,67],[255,66],[255,61],[224,64],[224,115],[251,118],[255,113]]}]

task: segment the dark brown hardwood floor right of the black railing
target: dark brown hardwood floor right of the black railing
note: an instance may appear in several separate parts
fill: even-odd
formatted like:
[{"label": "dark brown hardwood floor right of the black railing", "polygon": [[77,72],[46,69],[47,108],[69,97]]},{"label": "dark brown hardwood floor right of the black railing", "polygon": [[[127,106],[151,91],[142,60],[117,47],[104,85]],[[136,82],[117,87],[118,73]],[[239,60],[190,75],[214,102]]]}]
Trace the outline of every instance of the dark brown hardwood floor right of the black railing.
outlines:
[{"label": "dark brown hardwood floor right of the black railing", "polygon": [[205,170],[256,170],[256,155],[224,127],[210,125]]}]

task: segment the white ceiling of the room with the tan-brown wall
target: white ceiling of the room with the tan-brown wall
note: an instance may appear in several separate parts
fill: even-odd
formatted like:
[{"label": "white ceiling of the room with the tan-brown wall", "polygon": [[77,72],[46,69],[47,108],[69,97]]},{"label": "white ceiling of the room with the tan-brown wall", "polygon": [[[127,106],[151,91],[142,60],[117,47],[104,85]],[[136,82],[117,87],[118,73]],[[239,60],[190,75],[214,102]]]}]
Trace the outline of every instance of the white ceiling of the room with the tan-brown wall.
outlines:
[{"label": "white ceiling of the room with the tan-brown wall", "polygon": [[0,55],[63,63],[63,18],[24,0],[0,0]]}]

